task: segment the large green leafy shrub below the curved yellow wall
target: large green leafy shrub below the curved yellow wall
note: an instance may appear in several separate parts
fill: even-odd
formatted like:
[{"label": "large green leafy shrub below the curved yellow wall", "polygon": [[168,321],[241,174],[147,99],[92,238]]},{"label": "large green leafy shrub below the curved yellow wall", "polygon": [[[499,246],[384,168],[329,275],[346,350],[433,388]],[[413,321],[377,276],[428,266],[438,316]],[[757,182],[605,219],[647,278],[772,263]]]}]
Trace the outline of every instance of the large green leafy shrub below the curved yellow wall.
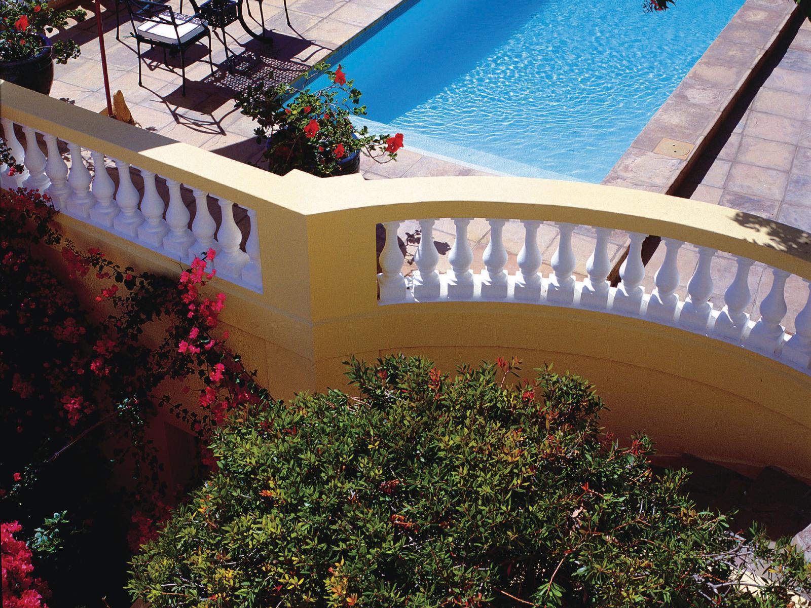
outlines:
[{"label": "large green leafy shrub below the curved yellow wall", "polygon": [[[133,561],[150,606],[789,606],[811,572],[787,542],[656,477],[582,379],[517,362],[441,375],[350,362],[359,397],[268,401],[217,432],[218,471]],[[740,563],[770,566],[757,587]],[[754,593],[753,593],[754,592]]]}]

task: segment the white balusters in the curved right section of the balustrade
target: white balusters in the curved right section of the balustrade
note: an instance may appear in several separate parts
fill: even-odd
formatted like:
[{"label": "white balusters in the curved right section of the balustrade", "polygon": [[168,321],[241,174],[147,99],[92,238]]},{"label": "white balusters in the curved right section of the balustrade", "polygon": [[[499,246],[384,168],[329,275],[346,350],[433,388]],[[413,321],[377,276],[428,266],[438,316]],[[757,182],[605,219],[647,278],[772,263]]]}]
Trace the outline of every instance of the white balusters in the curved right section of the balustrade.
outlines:
[{"label": "white balusters in the curved right section of the balustrade", "polygon": [[[736,257],[737,270],[723,295],[723,306],[714,306],[710,297],[723,275],[714,273],[713,261],[718,251],[697,246],[697,265],[689,279],[686,297],[682,299],[678,256],[684,242],[663,238],[665,255],[659,268],[646,268],[642,263],[644,234],[629,233],[629,252],[620,267],[620,284],[612,287],[607,281],[611,269],[608,238],[612,230],[596,227],[594,250],[586,263],[588,276],[577,280],[574,270],[577,258],[572,248],[575,225],[556,222],[558,244],[551,259],[552,272],[543,276],[542,247],[539,246],[539,227],[542,221],[521,221],[524,242],[517,255],[518,270],[514,274],[504,271],[508,252],[502,239],[507,220],[488,218],[490,242],[483,255],[484,267],[479,272],[472,268],[473,255],[466,232],[471,218],[451,218],[456,226],[456,238],[450,250],[446,272],[437,272],[439,256],[434,245],[434,227],[438,220],[418,220],[422,231],[416,270],[404,276],[405,255],[397,246],[397,229],[401,221],[384,222],[386,243],[380,255],[378,275],[380,304],[407,302],[523,302],[539,305],[570,306],[589,310],[602,310],[662,323],[689,332],[724,340],[743,348],[778,359],[787,365],[811,373],[811,280],[805,278],[809,294],[805,304],[788,310],[785,298],[789,272],[767,267],[773,277],[766,297],[758,307],[759,319],[750,319],[747,308],[753,294],[749,289],[749,272],[754,261]],[[547,245],[548,243],[544,243]],[[642,285],[646,275],[653,275],[650,293]],[[766,273],[764,273],[765,275]],[[802,277],[800,277],[802,278]],[[787,319],[794,320],[795,333],[786,331]]]}]

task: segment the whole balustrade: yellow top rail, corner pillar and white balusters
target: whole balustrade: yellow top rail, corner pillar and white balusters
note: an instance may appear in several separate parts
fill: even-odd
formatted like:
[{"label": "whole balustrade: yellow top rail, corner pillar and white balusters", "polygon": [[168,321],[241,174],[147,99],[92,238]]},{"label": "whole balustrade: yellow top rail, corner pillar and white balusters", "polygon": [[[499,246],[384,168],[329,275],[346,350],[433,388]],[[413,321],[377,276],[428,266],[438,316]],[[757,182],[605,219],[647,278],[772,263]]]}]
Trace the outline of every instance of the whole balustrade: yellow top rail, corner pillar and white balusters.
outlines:
[{"label": "whole balustrade: yellow top rail, corner pillar and white balusters", "polygon": [[[376,287],[381,305],[518,302],[624,315],[811,373],[811,236],[790,226],[662,195],[547,180],[417,178],[406,186],[403,180],[319,180],[298,172],[278,178],[15,85],[0,81],[0,88],[3,139],[24,165],[14,175],[0,166],[3,188],[44,192],[76,221],[169,259],[189,263],[213,248],[221,279],[263,294],[242,298],[261,306],[256,314],[274,319],[263,325],[268,336],[306,358],[384,348],[375,336],[385,332],[358,338],[359,346],[351,342],[352,332],[327,333],[345,319],[363,327],[387,317],[391,310],[375,305]],[[452,216],[441,226],[453,238],[447,259],[434,246],[443,213]],[[422,240],[414,272],[404,276],[397,233],[414,216]],[[508,224],[510,216],[523,219]],[[382,272],[375,284],[371,228],[381,219],[392,221],[382,222]],[[553,251],[543,220],[554,226]],[[481,233],[481,222],[489,242],[474,263],[479,241],[469,233]],[[517,242],[514,229],[520,231]],[[629,253],[619,285],[611,286],[612,235],[623,229],[629,230]],[[581,246],[584,232],[591,239],[588,251]],[[657,261],[646,267],[642,242],[648,233],[663,242]],[[340,256],[337,235],[354,245]],[[516,243],[512,253],[508,238]],[[687,255],[694,266],[683,263]],[[680,268],[690,276],[680,276]],[[757,289],[770,285],[767,293],[750,289],[755,272],[763,275]],[[242,320],[253,322],[247,310],[253,309],[242,310]],[[317,339],[302,340],[315,334]],[[344,350],[335,340],[353,346]]]}]

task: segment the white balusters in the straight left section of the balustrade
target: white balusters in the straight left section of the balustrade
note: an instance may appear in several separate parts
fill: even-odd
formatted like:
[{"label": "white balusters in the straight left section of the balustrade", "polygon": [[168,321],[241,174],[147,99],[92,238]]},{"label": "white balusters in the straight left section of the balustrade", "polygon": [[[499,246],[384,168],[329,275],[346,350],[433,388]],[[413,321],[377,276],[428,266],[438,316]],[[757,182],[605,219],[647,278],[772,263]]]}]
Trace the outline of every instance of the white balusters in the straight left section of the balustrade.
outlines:
[{"label": "white balusters in the straight left section of the balustrade", "polygon": [[[217,276],[262,292],[255,209],[212,196],[195,184],[139,169],[104,150],[83,149],[53,134],[38,133],[9,118],[0,124],[12,155],[24,165],[24,171],[14,175],[0,165],[3,188],[24,187],[49,195],[58,211],[181,263],[190,263],[212,247],[217,251]],[[218,221],[211,207],[219,208]]]}]

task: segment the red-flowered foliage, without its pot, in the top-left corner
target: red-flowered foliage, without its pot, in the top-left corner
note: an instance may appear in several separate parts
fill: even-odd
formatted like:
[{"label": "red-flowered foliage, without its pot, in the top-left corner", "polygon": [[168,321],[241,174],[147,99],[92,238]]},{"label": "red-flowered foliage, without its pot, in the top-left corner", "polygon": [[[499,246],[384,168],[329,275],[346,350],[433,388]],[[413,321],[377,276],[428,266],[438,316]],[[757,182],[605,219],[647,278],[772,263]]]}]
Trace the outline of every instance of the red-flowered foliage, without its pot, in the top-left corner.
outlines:
[{"label": "red-flowered foliage, without its pot, in the top-left corner", "polygon": [[[62,28],[67,19],[84,21],[81,9],[54,11],[47,0],[0,2],[0,62],[15,62],[34,57],[45,48],[43,36]],[[81,53],[74,40],[56,41],[51,53],[57,63],[67,63]]]}]

